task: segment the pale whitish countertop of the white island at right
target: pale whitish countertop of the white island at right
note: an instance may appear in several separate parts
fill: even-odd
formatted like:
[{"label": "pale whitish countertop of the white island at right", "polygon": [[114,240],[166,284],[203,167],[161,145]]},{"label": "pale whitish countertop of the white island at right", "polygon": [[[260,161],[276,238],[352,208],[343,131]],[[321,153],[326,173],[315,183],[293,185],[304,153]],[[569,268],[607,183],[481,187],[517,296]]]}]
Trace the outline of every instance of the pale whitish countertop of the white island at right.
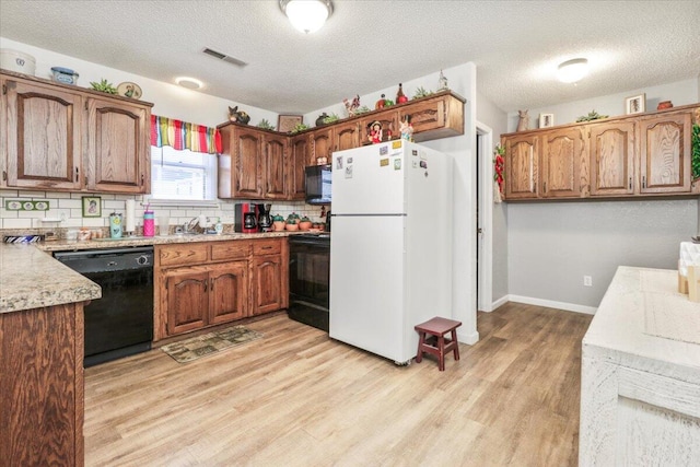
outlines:
[{"label": "pale whitish countertop of the white island at right", "polygon": [[700,384],[691,331],[700,303],[678,293],[677,275],[620,266],[583,338],[583,357]]}]

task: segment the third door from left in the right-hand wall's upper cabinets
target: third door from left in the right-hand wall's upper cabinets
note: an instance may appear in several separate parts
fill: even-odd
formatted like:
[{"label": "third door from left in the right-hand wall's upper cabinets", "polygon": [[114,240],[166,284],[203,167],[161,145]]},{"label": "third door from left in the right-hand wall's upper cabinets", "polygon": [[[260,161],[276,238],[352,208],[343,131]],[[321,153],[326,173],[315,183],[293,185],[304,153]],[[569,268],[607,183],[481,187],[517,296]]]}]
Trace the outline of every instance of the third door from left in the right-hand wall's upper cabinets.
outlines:
[{"label": "third door from left in the right-hand wall's upper cabinets", "polygon": [[634,122],[591,125],[591,196],[634,192]]}]

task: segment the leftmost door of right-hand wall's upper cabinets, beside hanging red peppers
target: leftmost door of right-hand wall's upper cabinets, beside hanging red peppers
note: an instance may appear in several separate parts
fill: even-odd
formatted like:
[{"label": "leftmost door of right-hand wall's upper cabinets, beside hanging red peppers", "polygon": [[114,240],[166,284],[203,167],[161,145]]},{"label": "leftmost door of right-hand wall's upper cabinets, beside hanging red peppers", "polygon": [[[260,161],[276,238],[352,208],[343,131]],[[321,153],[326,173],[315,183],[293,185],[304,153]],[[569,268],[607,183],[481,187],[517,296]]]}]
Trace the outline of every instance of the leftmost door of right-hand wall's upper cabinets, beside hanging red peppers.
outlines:
[{"label": "leftmost door of right-hand wall's upper cabinets, beside hanging red peppers", "polygon": [[539,196],[539,138],[536,135],[504,138],[505,198],[534,199]]}]

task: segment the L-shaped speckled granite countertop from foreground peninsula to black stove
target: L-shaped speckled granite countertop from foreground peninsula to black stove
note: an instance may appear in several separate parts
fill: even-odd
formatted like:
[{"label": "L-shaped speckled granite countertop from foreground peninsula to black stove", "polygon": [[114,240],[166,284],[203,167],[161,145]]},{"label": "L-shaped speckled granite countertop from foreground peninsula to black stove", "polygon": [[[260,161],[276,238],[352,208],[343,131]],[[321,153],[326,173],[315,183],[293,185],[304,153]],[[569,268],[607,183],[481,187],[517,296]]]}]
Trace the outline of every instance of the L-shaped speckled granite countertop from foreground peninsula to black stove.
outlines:
[{"label": "L-shaped speckled granite countertop from foreground peninsula to black stove", "polygon": [[62,240],[28,245],[0,244],[0,313],[83,302],[102,296],[100,285],[54,259],[51,252],[285,237],[303,233],[306,232],[167,235],[83,242]]}]

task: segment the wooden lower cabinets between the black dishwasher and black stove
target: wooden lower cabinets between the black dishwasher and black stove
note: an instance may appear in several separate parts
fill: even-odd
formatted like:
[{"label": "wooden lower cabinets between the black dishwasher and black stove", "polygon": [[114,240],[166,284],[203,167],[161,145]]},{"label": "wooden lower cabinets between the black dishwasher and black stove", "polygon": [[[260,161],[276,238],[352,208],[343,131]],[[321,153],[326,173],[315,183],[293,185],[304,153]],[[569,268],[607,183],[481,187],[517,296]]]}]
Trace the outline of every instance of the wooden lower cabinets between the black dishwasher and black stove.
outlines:
[{"label": "wooden lower cabinets between the black dishwasher and black stove", "polygon": [[156,246],[154,340],[289,303],[287,238]]}]

